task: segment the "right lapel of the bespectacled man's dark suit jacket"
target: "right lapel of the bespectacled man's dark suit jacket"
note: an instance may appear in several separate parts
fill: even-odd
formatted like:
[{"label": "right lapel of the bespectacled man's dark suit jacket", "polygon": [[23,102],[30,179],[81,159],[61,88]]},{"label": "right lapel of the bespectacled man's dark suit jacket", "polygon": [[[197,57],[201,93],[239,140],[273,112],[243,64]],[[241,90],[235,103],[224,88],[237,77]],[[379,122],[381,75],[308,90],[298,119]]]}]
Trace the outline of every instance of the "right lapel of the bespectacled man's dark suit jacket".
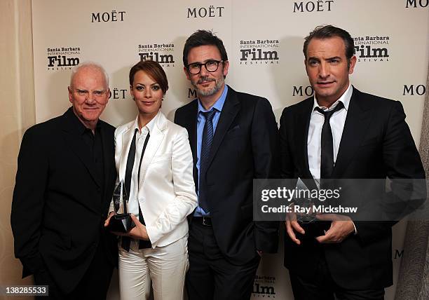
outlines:
[{"label": "right lapel of the bespectacled man's dark suit jacket", "polygon": [[216,131],[214,132],[212,148],[210,149],[210,157],[207,162],[207,170],[210,168],[210,164],[216,155],[217,149],[219,149],[226,131],[230,128],[231,123],[238,114],[238,111],[240,111],[240,102],[238,101],[236,91],[228,87],[224,107],[222,107]]}]

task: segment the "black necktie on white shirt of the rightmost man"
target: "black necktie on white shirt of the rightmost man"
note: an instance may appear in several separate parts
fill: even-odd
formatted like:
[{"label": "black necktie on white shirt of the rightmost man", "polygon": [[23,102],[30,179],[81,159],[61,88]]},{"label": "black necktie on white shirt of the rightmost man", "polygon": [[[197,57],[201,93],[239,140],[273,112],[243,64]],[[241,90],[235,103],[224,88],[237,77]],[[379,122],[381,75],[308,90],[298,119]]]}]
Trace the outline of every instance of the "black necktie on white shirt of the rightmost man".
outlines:
[{"label": "black necktie on white shirt of the rightmost man", "polygon": [[329,178],[334,170],[334,145],[332,140],[332,130],[329,124],[329,119],[335,111],[343,109],[343,102],[339,102],[331,111],[324,111],[320,107],[316,110],[325,116],[325,122],[322,126],[322,154],[320,161],[320,179]]}]

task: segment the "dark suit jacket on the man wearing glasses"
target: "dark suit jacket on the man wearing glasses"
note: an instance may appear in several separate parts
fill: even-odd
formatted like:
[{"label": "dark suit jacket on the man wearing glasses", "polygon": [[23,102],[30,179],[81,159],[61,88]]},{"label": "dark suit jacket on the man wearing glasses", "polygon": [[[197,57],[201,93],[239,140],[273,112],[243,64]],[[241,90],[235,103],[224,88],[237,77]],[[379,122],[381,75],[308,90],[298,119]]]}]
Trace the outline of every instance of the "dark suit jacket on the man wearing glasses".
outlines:
[{"label": "dark suit jacket on the man wearing glasses", "polygon": [[[196,169],[198,102],[177,109],[175,123],[188,130]],[[253,179],[278,177],[278,130],[268,100],[228,88],[214,132],[205,176],[207,200],[219,249],[233,264],[254,259],[257,250],[276,252],[278,222],[253,221]]]}]

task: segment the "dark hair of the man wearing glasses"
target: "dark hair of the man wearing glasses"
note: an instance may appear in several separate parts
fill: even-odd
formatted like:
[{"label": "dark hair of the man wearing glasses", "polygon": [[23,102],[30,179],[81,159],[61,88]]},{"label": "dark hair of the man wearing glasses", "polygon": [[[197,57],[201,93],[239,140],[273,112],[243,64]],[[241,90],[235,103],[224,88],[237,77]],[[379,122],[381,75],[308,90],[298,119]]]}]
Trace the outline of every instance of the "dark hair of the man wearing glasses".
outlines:
[{"label": "dark hair of the man wearing glasses", "polygon": [[188,67],[188,54],[192,48],[198,46],[212,45],[216,46],[217,50],[221,55],[221,60],[226,62],[228,60],[228,55],[226,55],[226,50],[224,43],[221,39],[215,36],[212,32],[207,30],[197,30],[186,40],[186,43],[183,48],[183,64],[185,67]]}]

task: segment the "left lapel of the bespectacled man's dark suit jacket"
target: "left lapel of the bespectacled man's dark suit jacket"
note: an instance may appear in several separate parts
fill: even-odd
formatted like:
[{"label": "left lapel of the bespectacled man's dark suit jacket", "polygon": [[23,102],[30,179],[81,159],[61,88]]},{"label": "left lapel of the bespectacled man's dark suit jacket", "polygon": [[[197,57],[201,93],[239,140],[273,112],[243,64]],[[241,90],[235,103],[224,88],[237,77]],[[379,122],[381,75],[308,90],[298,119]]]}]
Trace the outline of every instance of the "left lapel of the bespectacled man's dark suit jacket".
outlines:
[{"label": "left lapel of the bespectacled man's dark suit jacket", "polygon": [[196,139],[197,139],[197,118],[198,118],[198,100],[193,100],[189,107],[184,110],[183,123],[180,124],[188,130],[189,144],[191,144],[192,158],[193,158],[193,181],[198,186],[198,170],[196,169]]}]

